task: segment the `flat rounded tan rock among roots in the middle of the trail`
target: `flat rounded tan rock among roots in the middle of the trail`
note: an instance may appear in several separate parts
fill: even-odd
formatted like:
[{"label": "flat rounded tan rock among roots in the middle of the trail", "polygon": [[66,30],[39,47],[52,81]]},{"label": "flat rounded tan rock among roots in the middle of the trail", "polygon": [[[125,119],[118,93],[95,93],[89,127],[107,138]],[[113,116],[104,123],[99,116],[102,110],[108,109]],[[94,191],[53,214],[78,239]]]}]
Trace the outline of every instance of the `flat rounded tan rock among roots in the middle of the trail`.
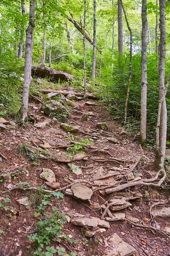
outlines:
[{"label": "flat rounded tan rock among roots in the middle of the trail", "polygon": [[71,190],[73,191],[75,197],[80,198],[82,200],[91,199],[91,196],[93,195],[93,191],[83,183],[77,183],[71,186]]}]

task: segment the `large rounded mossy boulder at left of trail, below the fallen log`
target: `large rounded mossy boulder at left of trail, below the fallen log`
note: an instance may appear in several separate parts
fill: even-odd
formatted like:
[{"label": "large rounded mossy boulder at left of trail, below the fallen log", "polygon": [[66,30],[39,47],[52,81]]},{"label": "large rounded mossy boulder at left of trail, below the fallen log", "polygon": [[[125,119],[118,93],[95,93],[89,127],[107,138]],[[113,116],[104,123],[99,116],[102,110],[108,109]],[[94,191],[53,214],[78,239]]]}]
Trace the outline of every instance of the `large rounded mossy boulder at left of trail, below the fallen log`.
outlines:
[{"label": "large rounded mossy boulder at left of trail, below the fallen log", "polygon": [[68,110],[60,103],[59,101],[47,101],[43,106],[42,110],[46,115],[50,114],[62,114],[64,112],[64,115],[68,115]]}]

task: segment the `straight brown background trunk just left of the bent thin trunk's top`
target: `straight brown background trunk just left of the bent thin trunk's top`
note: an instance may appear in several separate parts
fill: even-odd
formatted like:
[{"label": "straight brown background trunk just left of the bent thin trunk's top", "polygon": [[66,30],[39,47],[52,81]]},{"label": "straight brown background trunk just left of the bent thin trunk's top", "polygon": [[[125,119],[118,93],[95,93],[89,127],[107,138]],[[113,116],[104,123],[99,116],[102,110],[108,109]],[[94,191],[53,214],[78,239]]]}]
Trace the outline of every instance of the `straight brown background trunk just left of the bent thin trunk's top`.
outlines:
[{"label": "straight brown background trunk just left of the bent thin trunk's top", "polygon": [[118,6],[118,50],[123,54],[123,27],[122,27],[122,7],[121,0],[117,0]]}]

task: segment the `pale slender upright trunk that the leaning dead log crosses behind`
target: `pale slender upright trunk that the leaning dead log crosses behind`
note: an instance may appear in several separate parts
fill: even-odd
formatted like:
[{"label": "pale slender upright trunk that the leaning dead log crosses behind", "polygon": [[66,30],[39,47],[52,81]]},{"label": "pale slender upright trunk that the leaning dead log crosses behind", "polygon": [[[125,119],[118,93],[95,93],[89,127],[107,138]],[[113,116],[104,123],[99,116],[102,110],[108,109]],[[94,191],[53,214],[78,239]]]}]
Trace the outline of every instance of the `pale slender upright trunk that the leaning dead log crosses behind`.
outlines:
[{"label": "pale slender upright trunk that the leaning dead log crosses behind", "polygon": [[95,70],[96,70],[96,0],[94,0],[94,22],[93,22],[93,63],[92,63],[92,81],[95,82]]}]

